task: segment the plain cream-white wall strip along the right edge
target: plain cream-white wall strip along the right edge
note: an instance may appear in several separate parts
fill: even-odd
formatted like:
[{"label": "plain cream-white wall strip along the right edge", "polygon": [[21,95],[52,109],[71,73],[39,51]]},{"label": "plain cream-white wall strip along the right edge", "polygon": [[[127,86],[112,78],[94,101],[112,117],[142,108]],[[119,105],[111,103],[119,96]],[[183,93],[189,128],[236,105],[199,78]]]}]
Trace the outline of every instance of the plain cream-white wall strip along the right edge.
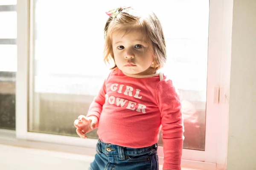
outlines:
[{"label": "plain cream-white wall strip along the right edge", "polygon": [[256,0],[234,0],[227,170],[256,170]]}]

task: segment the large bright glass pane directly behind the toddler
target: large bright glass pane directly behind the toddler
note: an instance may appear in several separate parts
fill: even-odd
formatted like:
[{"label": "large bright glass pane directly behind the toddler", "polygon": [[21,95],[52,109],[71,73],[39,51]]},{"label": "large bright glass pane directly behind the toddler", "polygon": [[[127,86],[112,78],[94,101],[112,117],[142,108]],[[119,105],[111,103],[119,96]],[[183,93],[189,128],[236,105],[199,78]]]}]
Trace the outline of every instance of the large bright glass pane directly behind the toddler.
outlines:
[{"label": "large bright glass pane directly behind the toddler", "polygon": [[[102,61],[103,28],[108,19],[105,11],[115,8],[113,4],[119,1],[102,2],[102,6],[92,1],[72,2],[38,0],[35,4],[29,131],[77,136],[73,121],[87,113],[108,73]],[[168,61],[164,72],[180,92],[185,117],[184,148],[204,150],[209,2],[131,0],[129,5],[145,2],[157,14],[165,32]],[[84,6],[90,8],[84,10]],[[97,138],[96,130],[88,136]],[[159,144],[163,144],[161,139]]]}]

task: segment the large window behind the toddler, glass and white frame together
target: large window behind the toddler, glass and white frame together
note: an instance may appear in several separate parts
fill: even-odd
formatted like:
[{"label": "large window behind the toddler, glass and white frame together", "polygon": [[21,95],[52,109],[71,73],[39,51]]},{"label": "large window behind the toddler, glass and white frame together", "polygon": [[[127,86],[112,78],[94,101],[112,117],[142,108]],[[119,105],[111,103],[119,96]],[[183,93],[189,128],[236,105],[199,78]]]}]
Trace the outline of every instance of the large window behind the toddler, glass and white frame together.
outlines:
[{"label": "large window behind the toddler, glass and white frame together", "polygon": [[[98,6],[97,1],[30,0],[30,11],[29,1],[22,2],[17,4],[17,137],[95,147],[96,131],[84,142],[73,121],[87,113],[108,74],[102,61],[105,11],[119,1]],[[219,121],[220,105],[214,101],[214,89],[221,85],[222,0],[157,2],[147,1],[147,8],[163,24],[168,50],[164,72],[173,77],[182,99],[182,158],[216,164],[221,144],[213,122]],[[159,155],[163,156],[163,147]]]}]

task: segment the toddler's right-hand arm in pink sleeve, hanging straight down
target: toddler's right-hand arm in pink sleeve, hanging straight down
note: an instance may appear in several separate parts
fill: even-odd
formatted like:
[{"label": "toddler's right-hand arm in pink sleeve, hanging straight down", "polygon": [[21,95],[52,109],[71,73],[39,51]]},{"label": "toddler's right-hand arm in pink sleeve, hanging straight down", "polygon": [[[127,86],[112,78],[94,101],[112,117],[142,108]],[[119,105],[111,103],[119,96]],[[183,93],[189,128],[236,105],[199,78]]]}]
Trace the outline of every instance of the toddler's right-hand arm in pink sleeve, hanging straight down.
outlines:
[{"label": "toddler's right-hand arm in pink sleeve, hanging straight down", "polygon": [[180,170],[183,147],[183,116],[180,99],[172,81],[164,79],[157,87],[157,103],[163,129],[163,169]]}]

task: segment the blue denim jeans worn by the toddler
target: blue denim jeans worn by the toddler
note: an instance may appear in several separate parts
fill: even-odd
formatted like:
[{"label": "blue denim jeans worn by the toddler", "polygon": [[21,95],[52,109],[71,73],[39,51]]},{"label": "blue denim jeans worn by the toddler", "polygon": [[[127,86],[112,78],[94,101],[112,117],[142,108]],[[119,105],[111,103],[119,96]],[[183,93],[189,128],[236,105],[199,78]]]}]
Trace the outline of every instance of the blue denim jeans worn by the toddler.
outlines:
[{"label": "blue denim jeans worn by the toddler", "polygon": [[157,144],[143,148],[122,147],[98,141],[89,170],[158,170]]}]

